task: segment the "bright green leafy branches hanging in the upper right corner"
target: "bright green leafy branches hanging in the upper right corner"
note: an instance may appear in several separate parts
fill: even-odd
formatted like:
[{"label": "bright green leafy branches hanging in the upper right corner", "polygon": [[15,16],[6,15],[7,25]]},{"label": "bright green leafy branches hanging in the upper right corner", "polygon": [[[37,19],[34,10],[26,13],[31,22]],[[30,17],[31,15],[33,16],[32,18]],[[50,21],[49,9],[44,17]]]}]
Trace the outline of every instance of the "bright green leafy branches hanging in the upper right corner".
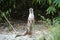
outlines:
[{"label": "bright green leafy branches hanging in the upper right corner", "polygon": [[46,15],[51,14],[51,21],[53,22],[53,15],[57,12],[57,9],[60,8],[60,0],[33,0],[33,3],[39,3],[42,7],[44,7],[43,5],[47,5],[45,9]]}]

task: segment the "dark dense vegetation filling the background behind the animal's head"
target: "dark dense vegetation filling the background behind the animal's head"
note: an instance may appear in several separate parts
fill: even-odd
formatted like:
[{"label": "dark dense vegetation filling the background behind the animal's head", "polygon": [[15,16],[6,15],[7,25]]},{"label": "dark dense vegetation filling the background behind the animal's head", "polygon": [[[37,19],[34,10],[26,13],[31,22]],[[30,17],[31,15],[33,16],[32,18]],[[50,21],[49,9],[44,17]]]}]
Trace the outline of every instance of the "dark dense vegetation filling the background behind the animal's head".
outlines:
[{"label": "dark dense vegetation filling the background behind the animal's head", "polygon": [[60,0],[0,0],[0,21],[4,20],[3,13],[7,18],[26,20],[30,7],[36,20],[50,20],[51,24],[60,20]]}]

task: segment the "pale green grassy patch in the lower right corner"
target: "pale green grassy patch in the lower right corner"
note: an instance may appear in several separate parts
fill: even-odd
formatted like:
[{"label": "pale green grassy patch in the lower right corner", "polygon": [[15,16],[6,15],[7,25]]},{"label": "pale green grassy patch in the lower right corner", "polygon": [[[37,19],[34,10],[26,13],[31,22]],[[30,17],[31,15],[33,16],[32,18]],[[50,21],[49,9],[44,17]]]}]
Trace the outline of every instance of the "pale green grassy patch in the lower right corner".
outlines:
[{"label": "pale green grassy patch in the lower right corner", "polygon": [[44,37],[39,40],[60,40],[60,24],[55,26],[50,25],[48,27],[48,32],[44,33]]}]

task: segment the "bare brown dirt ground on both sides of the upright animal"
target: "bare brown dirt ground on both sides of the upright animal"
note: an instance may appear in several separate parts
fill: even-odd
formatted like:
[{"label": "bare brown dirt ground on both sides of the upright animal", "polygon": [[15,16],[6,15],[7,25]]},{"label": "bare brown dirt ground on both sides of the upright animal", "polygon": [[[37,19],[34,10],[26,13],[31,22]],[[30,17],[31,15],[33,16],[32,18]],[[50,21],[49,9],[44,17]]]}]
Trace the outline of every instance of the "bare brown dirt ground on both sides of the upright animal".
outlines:
[{"label": "bare brown dirt ground on both sides of the upright animal", "polygon": [[[21,35],[26,31],[25,28],[27,27],[27,25],[26,25],[27,22],[25,22],[25,21],[11,21],[11,24],[13,25],[13,27],[16,31],[14,31],[14,30],[9,31],[9,26],[8,26],[7,22],[5,22],[5,23],[0,23],[0,34],[16,36],[18,34]],[[38,38],[40,36],[42,37],[44,35],[44,33],[47,33],[47,31],[48,31],[48,29],[45,24],[36,22],[35,26],[32,29],[32,37],[33,38]],[[26,37],[26,35],[23,37]],[[21,36],[20,36],[20,38],[21,38]]]}]

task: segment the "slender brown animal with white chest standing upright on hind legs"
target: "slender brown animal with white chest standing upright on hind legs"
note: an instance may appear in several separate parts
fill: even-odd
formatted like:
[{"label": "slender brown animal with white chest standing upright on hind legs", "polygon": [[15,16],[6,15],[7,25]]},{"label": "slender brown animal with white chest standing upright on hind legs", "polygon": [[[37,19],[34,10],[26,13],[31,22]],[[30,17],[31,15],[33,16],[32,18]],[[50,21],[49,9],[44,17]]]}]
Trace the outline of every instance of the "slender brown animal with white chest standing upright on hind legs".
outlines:
[{"label": "slender brown animal with white chest standing upright on hind legs", "polygon": [[16,37],[24,36],[26,34],[31,35],[32,34],[32,25],[33,24],[34,24],[34,12],[33,12],[33,8],[29,8],[29,16],[28,16],[28,21],[27,21],[26,32],[23,35],[16,35]]}]

